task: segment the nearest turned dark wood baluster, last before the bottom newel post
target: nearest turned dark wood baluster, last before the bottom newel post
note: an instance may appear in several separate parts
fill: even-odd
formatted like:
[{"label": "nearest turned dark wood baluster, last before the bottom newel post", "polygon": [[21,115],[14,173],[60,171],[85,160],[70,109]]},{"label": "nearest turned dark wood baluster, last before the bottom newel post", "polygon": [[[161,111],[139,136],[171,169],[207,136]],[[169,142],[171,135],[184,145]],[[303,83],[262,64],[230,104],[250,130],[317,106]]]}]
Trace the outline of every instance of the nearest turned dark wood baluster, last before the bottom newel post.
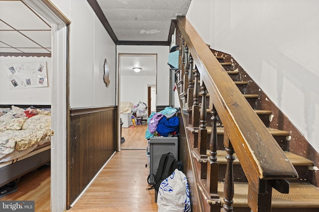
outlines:
[{"label": "nearest turned dark wood baluster, last before the bottom newel post", "polygon": [[224,182],[224,205],[223,212],[233,212],[233,197],[234,197],[234,173],[233,173],[233,161],[235,160],[234,148],[228,139],[228,135],[224,133],[224,145],[226,149],[226,176]]}]

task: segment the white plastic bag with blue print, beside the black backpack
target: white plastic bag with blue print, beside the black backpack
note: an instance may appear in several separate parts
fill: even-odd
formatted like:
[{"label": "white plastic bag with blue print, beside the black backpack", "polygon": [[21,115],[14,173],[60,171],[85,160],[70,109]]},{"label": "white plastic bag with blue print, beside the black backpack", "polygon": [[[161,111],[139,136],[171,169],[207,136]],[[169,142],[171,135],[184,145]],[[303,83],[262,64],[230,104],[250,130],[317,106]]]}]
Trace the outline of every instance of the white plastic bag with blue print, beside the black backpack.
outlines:
[{"label": "white plastic bag with blue print, beside the black backpack", "polygon": [[158,193],[158,212],[190,212],[189,188],[186,175],[175,171],[163,180]]}]

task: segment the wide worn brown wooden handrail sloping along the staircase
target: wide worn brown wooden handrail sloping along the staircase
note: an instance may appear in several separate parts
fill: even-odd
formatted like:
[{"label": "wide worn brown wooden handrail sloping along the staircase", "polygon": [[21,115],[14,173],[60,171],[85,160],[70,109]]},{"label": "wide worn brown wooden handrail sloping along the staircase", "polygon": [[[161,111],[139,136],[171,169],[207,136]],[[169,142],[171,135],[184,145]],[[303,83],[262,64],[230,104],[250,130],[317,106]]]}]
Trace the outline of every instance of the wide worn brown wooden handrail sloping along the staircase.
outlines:
[{"label": "wide worn brown wooden handrail sloping along the staircase", "polygon": [[284,151],[189,21],[184,16],[178,16],[177,26],[249,184],[259,188],[258,179],[298,178],[297,171]]}]

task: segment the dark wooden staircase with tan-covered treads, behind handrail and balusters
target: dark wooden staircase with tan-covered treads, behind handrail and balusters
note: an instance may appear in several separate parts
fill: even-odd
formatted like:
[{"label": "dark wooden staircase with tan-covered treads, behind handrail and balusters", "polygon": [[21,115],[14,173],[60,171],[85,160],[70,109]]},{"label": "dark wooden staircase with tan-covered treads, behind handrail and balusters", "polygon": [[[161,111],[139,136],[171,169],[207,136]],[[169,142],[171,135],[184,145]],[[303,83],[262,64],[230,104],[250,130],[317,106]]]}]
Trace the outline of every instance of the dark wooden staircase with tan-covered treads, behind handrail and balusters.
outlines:
[{"label": "dark wooden staircase with tan-covered treads, behind handrail and balusters", "polygon": [[[251,107],[254,109],[256,114],[259,116],[259,118],[262,120],[262,122],[267,127],[270,134],[275,138],[275,140],[278,142],[280,147],[285,152],[287,158],[291,161],[291,163],[294,165],[295,169],[298,172],[298,179],[291,180],[289,185],[289,194],[282,194],[278,192],[277,190],[273,189],[272,191],[272,212],[319,212],[319,188],[318,186],[318,175],[315,173],[315,171],[311,170],[309,167],[314,166],[314,162],[319,161],[313,161],[313,158],[318,158],[318,152],[316,152],[314,149],[312,149],[313,154],[317,154],[316,156],[311,155],[307,158],[307,155],[302,154],[299,152],[298,148],[292,149],[292,146],[290,146],[290,140],[291,137],[294,136],[296,133],[296,129],[287,129],[287,125],[279,125],[278,121],[275,121],[272,123],[274,116],[284,116],[282,112],[270,101],[270,99],[266,96],[266,94],[263,93],[262,89],[250,78],[250,76],[247,74],[246,71],[244,71],[237,62],[228,54],[218,52],[211,50],[213,54],[216,56],[216,59],[220,62],[222,67],[227,71],[231,79],[234,81],[234,83],[237,85],[238,89],[241,91],[241,93],[244,95],[248,103],[251,105]],[[194,161],[196,161],[198,164],[195,165],[198,167],[197,173],[199,173],[200,178],[200,185],[203,186],[203,188],[206,187],[207,179],[205,179],[206,173],[202,174],[201,171],[207,169],[207,158],[211,156],[210,151],[206,150],[206,155],[202,155],[198,152],[199,150],[199,143],[198,141],[200,138],[198,138],[198,133],[200,130],[200,127],[198,124],[197,126],[193,126],[192,124],[192,108],[190,105],[187,105],[187,94],[183,88],[183,82],[184,80],[182,76],[176,76],[176,78],[180,79],[177,80],[177,86],[180,91],[180,98],[181,102],[184,105],[183,112],[185,114],[186,119],[186,129],[189,135],[189,138],[191,138],[191,144],[193,146],[192,148],[192,156],[194,157]],[[198,86],[200,80],[192,80],[192,82],[197,82]],[[209,100],[209,94],[206,96],[206,119],[205,129],[207,129],[207,146],[206,149],[209,149],[209,141],[210,136],[212,133],[212,121],[211,121],[211,108],[209,108],[212,104]],[[201,106],[201,97],[202,93],[199,92],[198,97],[196,98],[198,101],[198,106]],[[266,101],[267,100],[267,101]],[[191,101],[193,102],[193,101]],[[195,102],[195,99],[194,99]],[[186,103],[186,104],[185,104]],[[271,106],[269,104],[272,104]],[[277,111],[274,111],[274,109],[277,109]],[[199,109],[200,113],[201,110]],[[276,119],[276,118],[275,118]],[[287,118],[285,118],[285,122],[289,121]],[[290,124],[292,125],[292,124]],[[218,195],[219,199],[221,201],[221,205],[224,204],[224,178],[225,178],[225,172],[226,172],[226,155],[227,152],[224,150],[225,147],[223,145],[224,141],[224,128],[223,124],[218,121],[217,122],[217,140],[218,140],[218,150],[217,150],[217,161],[219,163],[219,174],[218,174]],[[294,132],[294,133],[292,133]],[[299,135],[300,137],[301,135]],[[303,141],[305,143],[305,141]],[[311,148],[311,147],[309,147]],[[301,156],[302,155],[302,156]],[[235,160],[233,161],[233,169],[234,169],[234,197],[233,197],[233,211],[235,212],[251,212],[251,209],[248,207],[247,199],[248,199],[248,183],[247,179],[245,177],[245,174],[243,170],[241,169],[240,161],[236,157],[236,153],[234,154]],[[206,195],[209,196],[208,191],[204,191]],[[211,196],[212,198],[213,196]],[[214,198],[212,198],[214,199]],[[206,200],[206,204],[210,204],[211,210],[210,211],[218,211],[215,209],[212,209],[214,207],[220,207],[219,204],[213,204],[208,201],[209,197]],[[205,204],[205,203],[204,203]],[[204,207],[205,208],[205,207]],[[220,209],[221,211],[223,209]]]}]

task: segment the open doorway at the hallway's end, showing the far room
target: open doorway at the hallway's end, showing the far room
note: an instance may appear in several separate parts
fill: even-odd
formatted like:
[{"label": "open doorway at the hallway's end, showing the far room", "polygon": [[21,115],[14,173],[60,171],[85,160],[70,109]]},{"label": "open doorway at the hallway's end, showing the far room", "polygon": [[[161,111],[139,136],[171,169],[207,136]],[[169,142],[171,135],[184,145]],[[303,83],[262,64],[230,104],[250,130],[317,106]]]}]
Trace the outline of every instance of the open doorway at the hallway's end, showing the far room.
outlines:
[{"label": "open doorway at the hallway's end, showing the far room", "polygon": [[121,149],[145,149],[147,119],[155,110],[157,54],[119,54],[119,73]]}]

